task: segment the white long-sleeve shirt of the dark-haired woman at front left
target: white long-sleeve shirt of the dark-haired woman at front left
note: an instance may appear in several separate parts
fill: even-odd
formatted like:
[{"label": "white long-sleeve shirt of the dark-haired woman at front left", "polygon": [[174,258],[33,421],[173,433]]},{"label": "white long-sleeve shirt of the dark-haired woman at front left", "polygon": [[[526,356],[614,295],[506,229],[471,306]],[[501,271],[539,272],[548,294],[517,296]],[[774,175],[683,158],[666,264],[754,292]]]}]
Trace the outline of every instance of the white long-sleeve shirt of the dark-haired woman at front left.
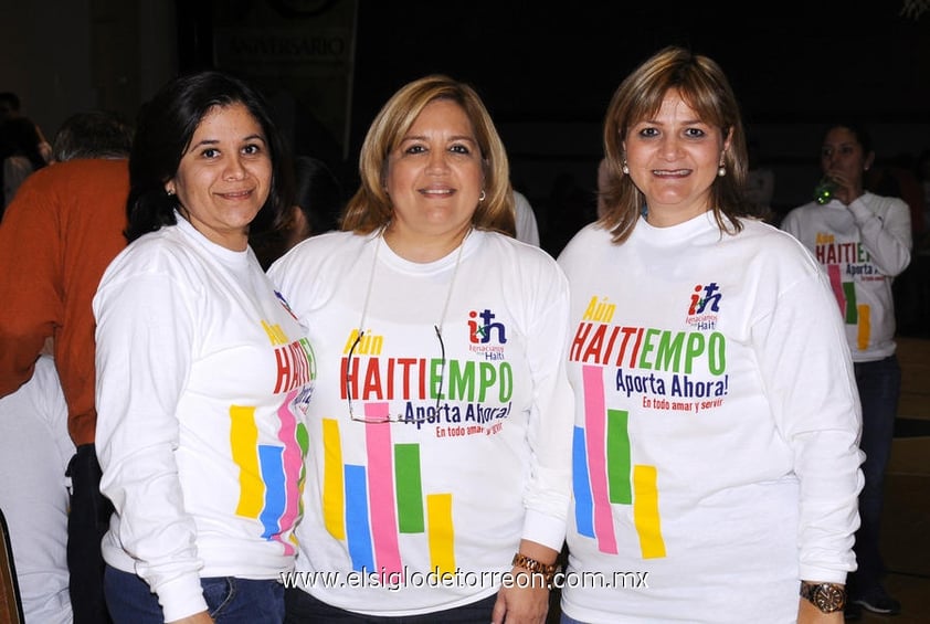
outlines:
[{"label": "white long-sleeve shirt of the dark-haired woman at front left", "polygon": [[113,261],[94,315],[106,562],[166,621],[207,609],[200,577],[290,570],[315,360],[252,250],[178,216]]}]

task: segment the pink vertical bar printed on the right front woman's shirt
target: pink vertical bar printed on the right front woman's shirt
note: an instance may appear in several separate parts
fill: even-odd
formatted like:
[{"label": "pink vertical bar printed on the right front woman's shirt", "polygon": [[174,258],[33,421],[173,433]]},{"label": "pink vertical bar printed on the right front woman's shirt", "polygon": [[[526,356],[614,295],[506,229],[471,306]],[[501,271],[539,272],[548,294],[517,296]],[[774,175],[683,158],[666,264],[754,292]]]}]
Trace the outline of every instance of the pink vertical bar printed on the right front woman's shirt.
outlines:
[{"label": "pink vertical bar printed on the right front woman's shirt", "polygon": [[616,535],[607,494],[606,432],[604,410],[603,369],[595,366],[582,368],[584,387],[584,430],[588,432],[588,472],[591,475],[594,532],[601,552],[616,553]]}]

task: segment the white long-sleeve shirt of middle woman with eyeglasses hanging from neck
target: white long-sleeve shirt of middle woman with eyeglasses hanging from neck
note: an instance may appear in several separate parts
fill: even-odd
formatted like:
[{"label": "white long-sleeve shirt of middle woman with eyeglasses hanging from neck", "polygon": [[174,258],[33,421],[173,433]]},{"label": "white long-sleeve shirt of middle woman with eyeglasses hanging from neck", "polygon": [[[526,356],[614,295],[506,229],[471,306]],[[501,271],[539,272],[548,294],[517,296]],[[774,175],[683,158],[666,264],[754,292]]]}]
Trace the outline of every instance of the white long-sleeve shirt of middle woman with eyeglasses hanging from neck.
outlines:
[{"label": "white long-sleeve shirt of middle woman with eyeglasses hanging from neck", "polygon": [[[420,264],[378,234],[336,232],[268,273],[320,362],[302,589],[356,612],[430,613],[496,592],[521,539],[561,549],[572,395],[568,286],[552,257],[473,231]],[[356,416],[411,422],[352,421],[347,390]],[[362,571],[388,586],[349,586]]]}]

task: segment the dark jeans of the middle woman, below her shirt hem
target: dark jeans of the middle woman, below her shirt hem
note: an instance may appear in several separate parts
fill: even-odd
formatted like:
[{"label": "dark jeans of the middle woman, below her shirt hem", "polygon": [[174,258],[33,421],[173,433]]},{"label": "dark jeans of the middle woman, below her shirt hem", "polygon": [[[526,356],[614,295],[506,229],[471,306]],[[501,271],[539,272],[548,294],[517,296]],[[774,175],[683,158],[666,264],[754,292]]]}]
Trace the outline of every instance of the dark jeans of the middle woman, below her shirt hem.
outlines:
[{"label": "dark jeans of the middle woman, below her shirt hem", "polygon": [[288,588],[284,593],[284,601],[287,605],[287,624],[316,624],[316,623],[339,623],[339,624],[487,624],[490,622],[490,613],[497,602],[497,594],[492,594],[484,600],[465,604],[455,609],[437,611],[424,615],[400,615],[385,617],[379,615],[363,615],[331,606],[315,599],[304,590]]}]

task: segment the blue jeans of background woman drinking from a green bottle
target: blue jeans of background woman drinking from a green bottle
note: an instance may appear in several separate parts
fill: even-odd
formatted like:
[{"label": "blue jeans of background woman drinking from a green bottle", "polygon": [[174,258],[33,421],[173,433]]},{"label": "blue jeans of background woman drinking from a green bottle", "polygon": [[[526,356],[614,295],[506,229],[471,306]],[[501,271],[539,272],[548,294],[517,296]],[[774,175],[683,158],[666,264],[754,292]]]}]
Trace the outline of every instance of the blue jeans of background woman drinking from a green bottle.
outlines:
[{"label": "blue jeans of background woman drinking from a green bottle", "polygon": [[885,468],[891,456],[898,396],[901,392],[901,367],[891,356],[874,362],[856,362],[856,385],[863,404],[863,437],[859,447],[865,452],[863,476],[865,486],[859,494],[862,525],[856,532],[858,570],[849,575],[849,593],[860,596],[881,585],[885,564],[879,551],[881,508],[885,496]]}]

